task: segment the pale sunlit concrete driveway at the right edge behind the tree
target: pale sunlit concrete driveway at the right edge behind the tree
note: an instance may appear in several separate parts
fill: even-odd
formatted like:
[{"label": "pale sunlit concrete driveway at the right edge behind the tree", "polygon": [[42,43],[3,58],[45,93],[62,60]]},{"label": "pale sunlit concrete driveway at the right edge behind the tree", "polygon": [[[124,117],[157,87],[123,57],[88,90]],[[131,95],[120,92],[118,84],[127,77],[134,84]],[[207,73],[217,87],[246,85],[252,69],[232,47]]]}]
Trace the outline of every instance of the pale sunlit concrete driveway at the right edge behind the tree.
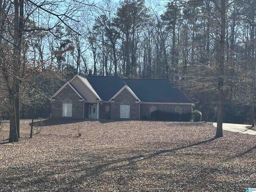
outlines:
[{"label": "pale sunlit concrete driveway at the right edge behind the tree", "polygon": [[[217,123],[213,123],[213,125],[215,127],[217,127]],[[256,135],[256,131],[246,128],[248,126],[250,126],[250,125],[231,124],[231,123],[223,123],[222,124],[223,130]]]}]

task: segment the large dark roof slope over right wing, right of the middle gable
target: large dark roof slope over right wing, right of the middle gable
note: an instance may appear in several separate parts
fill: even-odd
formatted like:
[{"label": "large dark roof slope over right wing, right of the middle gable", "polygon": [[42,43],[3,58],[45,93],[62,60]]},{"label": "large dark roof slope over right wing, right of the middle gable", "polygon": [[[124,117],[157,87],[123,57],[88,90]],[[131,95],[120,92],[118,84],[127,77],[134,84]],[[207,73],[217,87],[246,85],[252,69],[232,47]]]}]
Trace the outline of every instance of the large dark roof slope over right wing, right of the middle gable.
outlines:
[{"label": "large dark roof slope over right wing, right of the middle gable", "polygon": [[123,79],[142,102],[193,102],[168,79]]}]

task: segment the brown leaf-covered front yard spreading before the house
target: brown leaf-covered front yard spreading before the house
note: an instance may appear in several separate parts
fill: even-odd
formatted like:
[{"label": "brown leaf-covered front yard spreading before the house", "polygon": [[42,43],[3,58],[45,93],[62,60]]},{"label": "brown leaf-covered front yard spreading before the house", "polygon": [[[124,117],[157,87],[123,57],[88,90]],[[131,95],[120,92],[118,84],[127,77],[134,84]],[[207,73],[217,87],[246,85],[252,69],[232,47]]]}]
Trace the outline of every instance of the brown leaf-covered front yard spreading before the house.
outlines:
[{"label": "brown leaf-covered front yard spreading before the house", "polygon": [[[210,123],[37,122],[8,144],[0,132],[0,191],[235,191],[256,187],[256,136]],[[36,128],[35,128],[36,129]],[[82,136],[78,136],[78,132]]]}]

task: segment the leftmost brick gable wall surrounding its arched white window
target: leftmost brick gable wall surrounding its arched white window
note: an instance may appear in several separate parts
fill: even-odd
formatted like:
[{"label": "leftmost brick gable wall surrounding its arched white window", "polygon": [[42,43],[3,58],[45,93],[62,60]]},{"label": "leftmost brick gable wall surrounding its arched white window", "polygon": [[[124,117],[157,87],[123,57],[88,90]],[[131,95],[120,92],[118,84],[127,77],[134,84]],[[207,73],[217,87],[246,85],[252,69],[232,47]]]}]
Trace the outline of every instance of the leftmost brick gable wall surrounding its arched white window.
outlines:
[{"label": "leftmost brick gable wall surrounding its arched white window", "polygon": [[[69,85],[63,88],[57,96],[55,101],[51,102],[52,106],[52,118],[62,117],[62,103],[65,99],[72,101],[72,117],[71,118],[83,118],[83,104],[84,102],[79,101],[80,97],[74,92]],[[68,117],[65,117],[68,118]]]}]

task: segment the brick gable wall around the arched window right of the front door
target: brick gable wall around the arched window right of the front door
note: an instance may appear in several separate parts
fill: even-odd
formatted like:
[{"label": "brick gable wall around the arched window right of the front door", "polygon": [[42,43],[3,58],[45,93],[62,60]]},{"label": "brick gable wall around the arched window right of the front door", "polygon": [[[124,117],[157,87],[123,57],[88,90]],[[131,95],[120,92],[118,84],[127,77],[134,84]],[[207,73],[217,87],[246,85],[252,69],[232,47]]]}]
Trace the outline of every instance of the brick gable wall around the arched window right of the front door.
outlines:
[{"label": "brick gable wall around the arched window right of the front door", "polygon": [[130,103],[130,119],[139,118],[139,104],[135,103],[136,98],[127,90],[124,89],[116,98],[114,103],[111,103],[111,119],[120,119],[120,104],[122,101]]}]

